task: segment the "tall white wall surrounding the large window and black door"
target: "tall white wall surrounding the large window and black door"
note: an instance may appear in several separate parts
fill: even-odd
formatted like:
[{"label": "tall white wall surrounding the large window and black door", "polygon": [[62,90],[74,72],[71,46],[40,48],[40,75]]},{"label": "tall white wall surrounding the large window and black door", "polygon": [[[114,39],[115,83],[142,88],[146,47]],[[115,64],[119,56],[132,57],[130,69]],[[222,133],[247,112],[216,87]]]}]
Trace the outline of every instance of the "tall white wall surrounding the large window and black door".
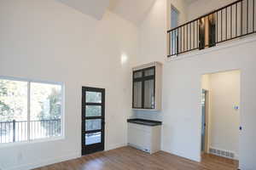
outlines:
[{"label": "tall white wall surrounding the large window and black door", "polygon": [[66,138],[0,148],[0,169],[80,156],[82,86],[106,88],[106,150],[126,145],[137,27],[110,12],[94,20],[54,0],[0,1],[0,25],[0,76],[66,86]]}]

